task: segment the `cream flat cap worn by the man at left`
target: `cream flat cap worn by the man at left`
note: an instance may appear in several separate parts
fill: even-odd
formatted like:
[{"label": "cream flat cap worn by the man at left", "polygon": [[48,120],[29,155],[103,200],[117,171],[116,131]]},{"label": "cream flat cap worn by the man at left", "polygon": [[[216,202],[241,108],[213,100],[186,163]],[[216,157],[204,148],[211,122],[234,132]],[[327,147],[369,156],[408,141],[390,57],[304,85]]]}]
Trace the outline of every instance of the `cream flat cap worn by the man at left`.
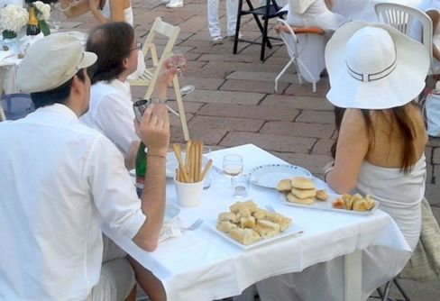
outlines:
[{"label": "cream flat cap worn by the man at left", "polygon": [[50,34],[32,44],[18,66],[16,85],[25,93],[60,87],[78,72],[95,63],[93,52],[67,33]]}]

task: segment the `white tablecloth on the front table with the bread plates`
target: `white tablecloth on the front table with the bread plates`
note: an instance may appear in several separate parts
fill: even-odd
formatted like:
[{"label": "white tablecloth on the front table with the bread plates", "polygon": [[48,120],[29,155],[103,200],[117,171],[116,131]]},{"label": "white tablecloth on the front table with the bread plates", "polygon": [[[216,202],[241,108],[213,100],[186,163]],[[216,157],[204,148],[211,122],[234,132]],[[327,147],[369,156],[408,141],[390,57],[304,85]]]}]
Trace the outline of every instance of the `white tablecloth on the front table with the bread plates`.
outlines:
[{"label": "white tablecloth on the front table with the bread plates", "polygon": [[[247,144],[211,152],[216,168],[221,169],[226,153],[242,154],[244,172],[263,164],[285,163],[260,148]],[[300,162],[298,162],[300,165]],[[260,206],[272,205],[276,211],[293,218],[304,233],[289,236],[243,251],[225,241],[206,224],[215,223],[219,212],[227,211],[236,199],[230,178],[214,172],[212,186],[204,191],[202,205],[181,208],[184,224],[203,218],[205,224],[195,232],[160,242],[156,251],[142,251],[130,239],[105,231],[125,251],[160,278],[168,300],[211,300],[239,295],[245,287],[263,278],[301,271],[317,262],[362,250],[369,245],[386,245],[409,251],[403,235],[390,215],[377,210],[370,216],[318,211],[283,205],[274,189],[251,185],[249,198]],[[322,182],[316,181],[320,186]],[[175,187],[169,180],[167,202],[177,204]],[[357,260],[355,269],[361,269]]]}]

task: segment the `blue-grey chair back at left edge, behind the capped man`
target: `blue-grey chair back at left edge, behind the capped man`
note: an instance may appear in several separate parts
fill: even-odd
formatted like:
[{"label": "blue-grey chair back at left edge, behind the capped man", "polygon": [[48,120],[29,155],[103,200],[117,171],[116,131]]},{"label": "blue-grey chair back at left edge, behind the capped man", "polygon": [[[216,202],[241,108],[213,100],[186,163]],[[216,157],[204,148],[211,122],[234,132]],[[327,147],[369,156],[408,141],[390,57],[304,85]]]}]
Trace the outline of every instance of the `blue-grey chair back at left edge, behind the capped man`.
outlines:
[{"label": "blue-grey chair back at left edge, behind the capped man", "polygon": [[17,120],[35,111],[31,96],[23,93],[6,94],[2,96],[0,103],[6,120]]}]

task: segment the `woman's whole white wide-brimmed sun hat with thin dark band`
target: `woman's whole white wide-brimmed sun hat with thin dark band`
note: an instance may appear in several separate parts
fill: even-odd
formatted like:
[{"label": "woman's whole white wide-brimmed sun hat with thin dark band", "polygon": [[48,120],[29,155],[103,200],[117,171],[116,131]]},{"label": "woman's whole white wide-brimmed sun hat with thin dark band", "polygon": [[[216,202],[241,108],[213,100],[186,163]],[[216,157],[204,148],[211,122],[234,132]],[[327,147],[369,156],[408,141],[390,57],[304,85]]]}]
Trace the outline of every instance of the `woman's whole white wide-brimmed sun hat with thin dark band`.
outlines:
[{"label": "woman's whole white wide-brimmed sun hat with thin dark band", "polygon": [[430,60],[417,41],[386,24],[345,23],[327,42],[327,99],[336,106],[388,109],[406,105],[425,87]]}]

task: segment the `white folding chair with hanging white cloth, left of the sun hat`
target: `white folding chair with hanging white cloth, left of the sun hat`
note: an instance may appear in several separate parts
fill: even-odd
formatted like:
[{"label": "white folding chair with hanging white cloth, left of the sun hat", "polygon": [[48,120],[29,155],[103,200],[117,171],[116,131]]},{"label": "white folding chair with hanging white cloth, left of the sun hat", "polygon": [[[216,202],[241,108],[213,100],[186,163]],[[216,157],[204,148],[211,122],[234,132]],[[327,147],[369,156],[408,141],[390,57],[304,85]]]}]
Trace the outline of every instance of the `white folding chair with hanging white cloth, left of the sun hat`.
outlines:
[{"label": "white folding chair with hanging white cloth, left of the sun hat", "polygon": [[289,33],[280,31],[280,38],[286,45],[290,60],[282,68],[277,78],[275,78],[275,92],[278,92],[278,81],[282,75],[291,64],[295,64],[299,84],[302,84],[302,79],[304,78],[307,82],[313,84],[313,92],[315,93],[316,83],[319,81],[320,74],[325,68],[325,37],[316,33],[296,34],[289,23],[283,19],[278,19],[277,25],[284,25],[289,29]]}]

